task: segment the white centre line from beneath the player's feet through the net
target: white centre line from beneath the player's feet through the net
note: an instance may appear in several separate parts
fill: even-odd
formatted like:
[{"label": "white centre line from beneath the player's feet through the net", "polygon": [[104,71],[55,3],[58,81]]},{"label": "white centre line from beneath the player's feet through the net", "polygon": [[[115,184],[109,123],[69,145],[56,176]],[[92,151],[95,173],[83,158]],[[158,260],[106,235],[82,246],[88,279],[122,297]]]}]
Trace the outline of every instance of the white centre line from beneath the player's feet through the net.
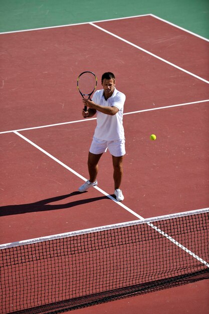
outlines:
[{"label": "white centre line from beneath the player's feet through the net", "polygon": [[[80,174],[78,174],[76,171],[74,171],[72,168],[68,167],[67,165],[65,165],[64,163],[62,163],[61,161],[59,161],[57,158],[55,158],[53,155],[51,155],[49,152],[47,152],[46,150],[44,150],[43,148],[41,148],[40,146],[38,146],[37,144],[35,144],[34,142],[32,142],[30,139],[28,139],[27,137],[25,137],[24,135],[20,134],[17,131],[14,131],[15,134],[17,134],[18,136],[22,137],[24,140],[26,140],[27,142],[29,142],[31,145],[33,145],[34,147],[36,147],[37,149],[39,149],[40,151],[42,151],[43,153],[45,153],[47,156],[49,156],[51,159],[53,159],[55,162],[57,162],[58,164],[60,164],[61,166],[63,166],[64,168],[66,168],[67,170],[69,170],[70,172],[72,172],[74,175],[76,175],[77,177],[79,177],[80,179],[87,181],[86,178],[84,178],[83,176],[81,176]],[[124,204],[117,202],[111,195],[107,194],[105,191],[103,191],[102,189],[98,188],[98,187],[94,187],[96,190],[98,190],[100,193],[102,193],[103,195],[105,195],[106,197],[108,197],[109,199],[111,199],[113,202],[117,203],[119,206],[123,207],[125,210],[127,210],[129,213],[131,213],[132,215],[134,215],[135,217],[139,218],[140,220],[144,220],[144,218],[140,215],[138,215],[137,213],[135,213],[134,211],[132,211],[130,208],[128,208],[127,206],[125,206]],[[152,229],[154,229],[155,231],[157,231],[158,233],[160,233],[161,235],[163,235],[165,238],[167,238],[169,241],[171,241],[172,243],[174,243],[176,246],[178,246],[180,249],[182,249],[183,251],[185,251],[186,253],[188,253],[189,255],[191,255],[193,258],[197,259],[199,262],[203,263],[204,265],[206,265],[207,267],[209,267],[209,264],[204,261],[202,258],[200,258],[198,255],[194,254],[193,252],[191,252],[189,249],[187,249],[185,246],[181,245],[179,242],[177,242],[175,239],[173,239],[172,237],[170,237],[168,234],[166,234],[164,231],[162,231],[161,229],[155,227],[152,223],[147,223]]]}]

